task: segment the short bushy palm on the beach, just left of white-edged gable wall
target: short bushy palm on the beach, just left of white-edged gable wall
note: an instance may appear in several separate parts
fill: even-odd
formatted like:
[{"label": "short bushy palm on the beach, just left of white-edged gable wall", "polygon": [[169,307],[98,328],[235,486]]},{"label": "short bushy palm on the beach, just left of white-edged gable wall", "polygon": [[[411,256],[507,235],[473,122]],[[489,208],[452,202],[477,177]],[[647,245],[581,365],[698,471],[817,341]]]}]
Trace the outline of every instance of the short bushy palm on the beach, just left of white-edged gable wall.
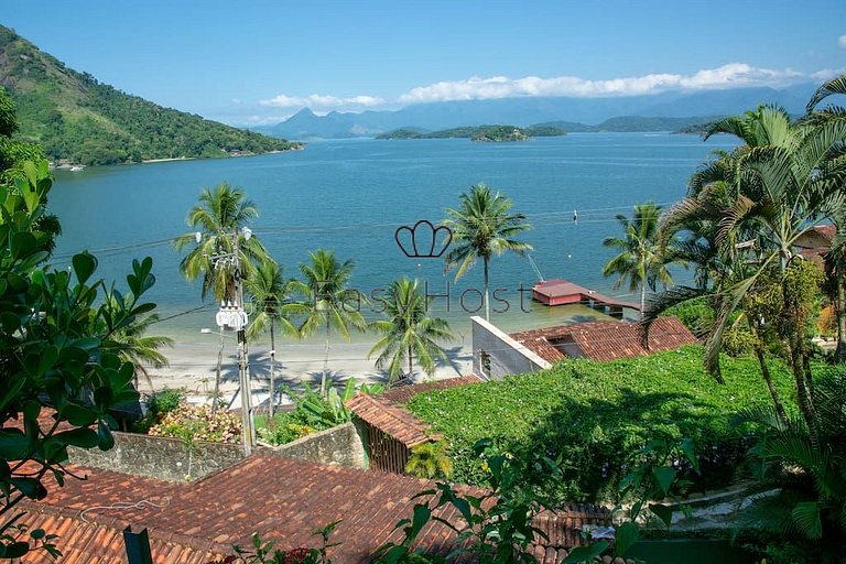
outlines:
[{"label": "short bushy palm on the beach, just left of white-edged gable wall", "polygon": [[383,300],[387,319],[377,319],[370,326],[382,334],[370,349],[368,358],[379,354],[376,367],[388,366],[389,382],[393,383],[402,375],[402,365],[408,361],[406,378],[414,370],[414,357],[424,372],[432,376],[435,360],[446,359],[446,354],[438,341],[453,340],[449,324],[429,315],[429,305],[434,300],[426,300],[416,280],[406,278],[394,280]]}]

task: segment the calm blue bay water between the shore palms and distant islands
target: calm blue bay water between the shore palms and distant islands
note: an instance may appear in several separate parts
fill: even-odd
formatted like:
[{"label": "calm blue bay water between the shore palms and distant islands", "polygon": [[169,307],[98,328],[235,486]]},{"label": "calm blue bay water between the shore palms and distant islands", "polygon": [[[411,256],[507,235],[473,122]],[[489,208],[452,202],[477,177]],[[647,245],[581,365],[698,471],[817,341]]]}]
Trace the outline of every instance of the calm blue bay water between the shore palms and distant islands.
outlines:
[{"label": "calm blue bay water between the shore palms and distant islands", "polygon": [[[534,246],[532,257],[544,278],[625,295],[601,276],[612,254],[601,241],[620,234],[615,216],[629,215],[640,202],[677,200],[708,152],[730,147],[728,139],[704,143],[694,135],[643,133],[502,144],[343,140],[242,159],[57,171],[50,207],[62,220],[63,235],[54,262],[66,267],[70,254],[89,249],[99,258],[99,274],[120,285],[132,258],[153,257],[158,283],[150,297],[163,317],[173,316],[156,332],[199,340],[199,328],[214,327],[216,306],[209,302],[185,313],[204,304],[198,285],[178,274],[180,256],[169,240],[188,230],[185,215],[200,188],[228,182],[242,187],[258,206],[261,215],[253,231],[286,275],[297,274],[307,251],[334,249],[340,259],[355,260],[352,285],[365,294],[401,275],[425,281],[430,293],[441,296],[435,311],[466,335],[469,314],[464,310],[479,304],[473,289],[482,288],[481,265],[456,283],[444,276],[441,260],[406,258],[394,242],[398,227],[419,219],[437,223],[446,207],[457,206],[460,192],[485,182],[510,197],[513,210],[534,225],[524,239]],[[491,288],[502,289],[498,295],[509,302],[509,311],[496,314],[495,323],[516,330],[594,315],[578,306],[531,306],[528,297],[523,306],[532,312],[522,312],[520,284],[531,288],[535,281],[524,258],[492,261]]]}]

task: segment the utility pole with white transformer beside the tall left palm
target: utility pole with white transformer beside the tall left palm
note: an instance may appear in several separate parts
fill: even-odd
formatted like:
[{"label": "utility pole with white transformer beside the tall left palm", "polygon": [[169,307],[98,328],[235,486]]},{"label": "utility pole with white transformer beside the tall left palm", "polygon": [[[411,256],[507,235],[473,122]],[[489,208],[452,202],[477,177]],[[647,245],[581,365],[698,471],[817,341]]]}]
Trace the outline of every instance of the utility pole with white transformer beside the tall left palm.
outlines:
[{"label": "utility pole with white transformer beside the tall left palm", "polygon": [[[252,231],[245,227],[241,234],[246,240],[250,240]],[[197,232],[197,241],[202,234]],[[235,282],[235,303],[231,301],[223,302],[220,310],[215,315],[217,326],[223,332],[225,328],[237,332],[238,338],[238,381],[241,388],[241,441],[243,443],[243,454],[252,454],[252,445],[256,443],[256,426],[252,421],[252,392],[250,390],[250,379],[247,372],[247,324],[249,317],[243,311],[243,284],[241,282],[241,247],[238,242],[238,231],[232,230],[231,252],[221,252],[209,257],[215,264],[215,269],[232,268]]]}]

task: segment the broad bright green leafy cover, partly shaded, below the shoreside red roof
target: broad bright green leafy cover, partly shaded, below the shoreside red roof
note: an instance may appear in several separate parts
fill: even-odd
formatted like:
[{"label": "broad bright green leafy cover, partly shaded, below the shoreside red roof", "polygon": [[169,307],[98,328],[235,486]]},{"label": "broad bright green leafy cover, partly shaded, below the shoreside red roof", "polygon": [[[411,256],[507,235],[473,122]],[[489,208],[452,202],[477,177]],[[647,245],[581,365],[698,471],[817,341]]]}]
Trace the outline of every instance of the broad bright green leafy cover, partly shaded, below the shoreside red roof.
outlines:
[{"label": "broad bright green leafy cover, partly shaded, below the shoreside red roof", "polygon": [[[733,427],[741,406],[767,404],[752,358],[726,358],[726,384],[709,378],[702,347],[595,362],[563,360],[542,372],[452,390],[426,392],[408,408],[452,445],[456,481],[484,484],[473,445],[491,437],[516,456],[562,457],[560,496],[598,500],[616,495],[628,474],[626,454],[650,440],[690,437],[704,453],[698,486],[727,484],[742,459],[749,430]],[[776,386],[790,397],[790,375],[772,366]]]}]

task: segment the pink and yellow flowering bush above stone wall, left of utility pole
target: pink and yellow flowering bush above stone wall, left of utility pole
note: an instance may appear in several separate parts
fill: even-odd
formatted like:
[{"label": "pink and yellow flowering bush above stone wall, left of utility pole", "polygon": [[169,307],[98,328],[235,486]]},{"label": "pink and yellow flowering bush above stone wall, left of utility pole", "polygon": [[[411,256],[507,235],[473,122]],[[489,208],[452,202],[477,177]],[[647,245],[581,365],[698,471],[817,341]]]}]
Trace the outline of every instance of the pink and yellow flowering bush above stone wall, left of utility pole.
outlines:
[{"label": "pink and yellow flowering bush above stone wall, left of utility pole", "polygon": [[153,436],[173,436],[185,441],[209,441],[212,443],[239,443],[241,420],[238,415],[218,410],[213,414],[207,405],[181,404],[165,413],[162,420],[150,427]]}]

